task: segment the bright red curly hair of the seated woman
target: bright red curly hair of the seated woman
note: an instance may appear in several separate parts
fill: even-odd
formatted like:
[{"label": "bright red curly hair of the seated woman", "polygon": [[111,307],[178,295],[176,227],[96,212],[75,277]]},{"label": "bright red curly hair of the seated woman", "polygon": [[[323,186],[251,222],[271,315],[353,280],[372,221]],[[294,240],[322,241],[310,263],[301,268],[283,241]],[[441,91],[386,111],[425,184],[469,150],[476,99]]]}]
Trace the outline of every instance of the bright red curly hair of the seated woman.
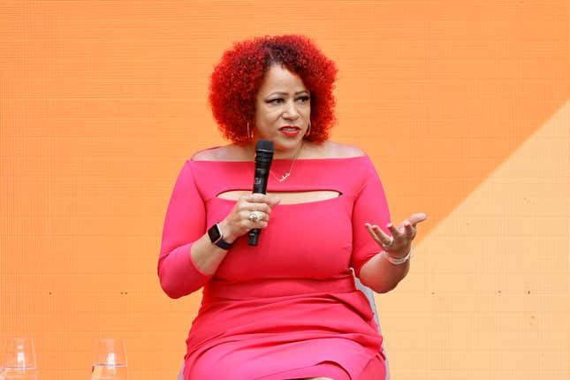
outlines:
[{"label": "bright red curly hair of the seated woman", "polygon": [[253,125],[255,95],[271,65],[283,65],[303,80],[311,95],[311,132],[306,139],[323,143],[335,122],[337,66],[308,37],[294,34],[237,42],[224,52],[209,85],[209,103],[224,137],[240,145],[249,141],[247,124]]}]

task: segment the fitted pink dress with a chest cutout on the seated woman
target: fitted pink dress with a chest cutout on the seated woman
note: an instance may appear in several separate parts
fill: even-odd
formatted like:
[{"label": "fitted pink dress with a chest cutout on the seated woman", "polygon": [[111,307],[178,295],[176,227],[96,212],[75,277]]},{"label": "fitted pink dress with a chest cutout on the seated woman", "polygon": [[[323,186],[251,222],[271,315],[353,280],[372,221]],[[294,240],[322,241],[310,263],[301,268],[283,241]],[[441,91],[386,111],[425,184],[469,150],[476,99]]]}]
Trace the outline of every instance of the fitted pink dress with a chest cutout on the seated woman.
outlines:
[{"label": "fitted pink dress with a chest cutout on the seated woman", "polygon": [[[274,160],[284,173],[291,160]],[[369,156],[299,159],[291,177],[270,176],[268,191],[332,190],[324,201],[279,204],[257,247],[238,239],[213,277],[190,248],[251,190],[253,162],[188,160],[166,213],[158,276],[172,298],[203,286],[186,340],[185,379],[285,379],[329,376],[384,379],[382,336],[351,268],[379,251],[364,224],[390,221],[384,189]]]}]

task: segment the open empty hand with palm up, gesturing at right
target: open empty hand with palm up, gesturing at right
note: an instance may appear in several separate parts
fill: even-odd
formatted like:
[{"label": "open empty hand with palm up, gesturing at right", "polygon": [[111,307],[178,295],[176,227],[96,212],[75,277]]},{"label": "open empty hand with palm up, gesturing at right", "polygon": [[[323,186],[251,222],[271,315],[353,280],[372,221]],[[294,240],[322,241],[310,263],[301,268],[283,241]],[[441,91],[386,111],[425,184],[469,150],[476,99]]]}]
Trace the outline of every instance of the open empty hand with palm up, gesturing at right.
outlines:
[{"label": "open empty hand with palm up, gesturing at right", "polygon": [[409,219],[402,222],[399,227],[389,223],[386,225],[391,236],[382,231],[376,224],[365,224],[369,230],[372,239],[382,247],[386,253],[390,253],[391,257],[398,259],[404,257],[410,251],[412,240],[417,232],[416,225],[423,222],[428,217],[423,213],[412,214]]}]

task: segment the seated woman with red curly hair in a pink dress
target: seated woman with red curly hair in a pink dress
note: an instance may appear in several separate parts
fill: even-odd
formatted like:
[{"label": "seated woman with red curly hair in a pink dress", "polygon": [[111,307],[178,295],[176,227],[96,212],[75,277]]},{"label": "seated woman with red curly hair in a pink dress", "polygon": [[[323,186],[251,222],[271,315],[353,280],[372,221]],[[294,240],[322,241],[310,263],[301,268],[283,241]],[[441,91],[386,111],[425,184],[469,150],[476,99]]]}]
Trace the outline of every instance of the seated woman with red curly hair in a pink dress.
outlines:
[{"label": "seated woman with red curly hair in a pink dress", "polygon": [[[336,72],[306,37],[285,35],[237,43],[212,74],[209,100],[232,143],[184,165],[158,262],[172,298],[203,286],[185,379],[384,378],[382,337],[351,268],[390,291],[425,215],[391,224],[369,157],[328,141]],[[260,139],[275,154],[268,194],[251,194]]]}]

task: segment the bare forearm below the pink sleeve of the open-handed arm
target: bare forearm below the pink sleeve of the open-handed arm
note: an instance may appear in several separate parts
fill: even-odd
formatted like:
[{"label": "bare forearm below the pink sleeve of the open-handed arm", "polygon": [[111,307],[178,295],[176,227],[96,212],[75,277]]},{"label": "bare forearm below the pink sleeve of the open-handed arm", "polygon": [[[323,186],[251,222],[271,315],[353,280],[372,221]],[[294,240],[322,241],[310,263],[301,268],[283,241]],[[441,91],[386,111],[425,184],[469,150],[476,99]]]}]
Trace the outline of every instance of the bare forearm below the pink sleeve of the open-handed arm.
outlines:
[{"label": "bare forearm below the pink sleeve of the open-handed arm", "polygon": [[410,270],[410,261],[399,265],[392,264],[381,252],[366,262],[360,272],[361,283],[376,293],[390,292],[406,277]]}]

